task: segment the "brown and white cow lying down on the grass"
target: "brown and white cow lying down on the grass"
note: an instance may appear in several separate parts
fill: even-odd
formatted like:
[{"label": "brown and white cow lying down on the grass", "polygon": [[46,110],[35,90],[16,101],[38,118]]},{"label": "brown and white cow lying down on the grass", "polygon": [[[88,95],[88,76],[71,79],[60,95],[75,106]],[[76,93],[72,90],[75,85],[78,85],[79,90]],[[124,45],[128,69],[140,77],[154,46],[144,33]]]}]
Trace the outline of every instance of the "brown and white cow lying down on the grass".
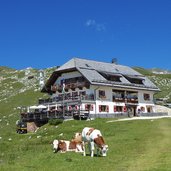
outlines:
[{"label": "brown and white cow lying down on the grass", "polygon": [[54,140],[53,141],[53,152],[65,153],[67,151],[83,152],[82,143],[78,143],[74,140]]}]

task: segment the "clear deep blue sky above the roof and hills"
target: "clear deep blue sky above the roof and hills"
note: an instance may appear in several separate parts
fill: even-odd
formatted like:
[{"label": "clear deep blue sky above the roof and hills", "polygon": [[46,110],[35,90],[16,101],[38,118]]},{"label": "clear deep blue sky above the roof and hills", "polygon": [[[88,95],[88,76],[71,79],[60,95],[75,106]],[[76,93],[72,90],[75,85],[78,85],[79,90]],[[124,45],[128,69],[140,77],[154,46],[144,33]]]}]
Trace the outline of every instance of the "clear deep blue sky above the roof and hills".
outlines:
[{"label": "clear deep blue sky above the roof and hills", "polygon": [[170,0],[0,0],[0,66],[73,57],[171,69]]}]

